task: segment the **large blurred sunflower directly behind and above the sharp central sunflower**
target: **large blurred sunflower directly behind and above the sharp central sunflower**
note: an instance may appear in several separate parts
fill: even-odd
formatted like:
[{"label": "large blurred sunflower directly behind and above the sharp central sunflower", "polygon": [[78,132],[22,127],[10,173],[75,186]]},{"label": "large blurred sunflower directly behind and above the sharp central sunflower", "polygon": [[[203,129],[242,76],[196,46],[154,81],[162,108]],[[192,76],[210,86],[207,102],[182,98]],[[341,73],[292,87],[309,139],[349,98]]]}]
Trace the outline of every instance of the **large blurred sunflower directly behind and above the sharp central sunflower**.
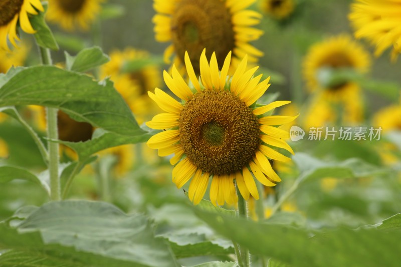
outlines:
[{"label": "large blurred sunflower directly behind and above the sharp central sunflower", "polygon": [[[262,15],[246,10],[256,0],[154,0],[157,14],[153,17],[155,38],[158,42],[171,42],[164,52],[164,60],[183,67],[187,51],[195,74],[200,74],[198,59],[204,48],[216,53],[218,66],[233,51],[232,67],[239,58],[248,54],[249,62],[256,63],[263,53],[249,44],[263,34],[252,28],[260,23]],[[184,69],[184,68],[183,68]],[[230,72],[231,73],[231,70]]]}]

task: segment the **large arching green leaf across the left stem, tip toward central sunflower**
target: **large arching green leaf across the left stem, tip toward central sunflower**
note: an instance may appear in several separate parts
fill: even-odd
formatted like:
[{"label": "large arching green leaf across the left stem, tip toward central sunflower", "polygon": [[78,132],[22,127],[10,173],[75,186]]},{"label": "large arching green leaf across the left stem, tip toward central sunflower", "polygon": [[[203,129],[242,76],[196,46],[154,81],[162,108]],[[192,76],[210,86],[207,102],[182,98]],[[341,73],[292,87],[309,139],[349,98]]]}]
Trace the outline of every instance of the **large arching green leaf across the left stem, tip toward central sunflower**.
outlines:
[{"label": "large arching green leaf across the left stem, tip toward central sunflower", "polygon": [[109,80],[54,66],[17,68],[0,77],[0,107],[42,105],[58,108],[72,119],[121,135],[144,134],[132,112]]}]

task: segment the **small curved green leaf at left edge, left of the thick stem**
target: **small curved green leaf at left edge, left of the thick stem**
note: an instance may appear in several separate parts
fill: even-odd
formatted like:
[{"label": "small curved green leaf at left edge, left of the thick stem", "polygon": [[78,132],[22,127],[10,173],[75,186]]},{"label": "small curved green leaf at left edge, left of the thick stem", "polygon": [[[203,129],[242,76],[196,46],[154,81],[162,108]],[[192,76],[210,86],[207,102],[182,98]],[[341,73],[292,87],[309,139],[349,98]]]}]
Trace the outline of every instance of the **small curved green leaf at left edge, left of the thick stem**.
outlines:
[{"label": "small curved green leaf at left edge, left of the thick stem", "polygon": [[7,183],[15,179],[34,182],[45,189],[47,193],[50,193],[50,187],[46,181],[39,179],[38,176],[29,170],[14,166],[0,166],[0,183]]}]

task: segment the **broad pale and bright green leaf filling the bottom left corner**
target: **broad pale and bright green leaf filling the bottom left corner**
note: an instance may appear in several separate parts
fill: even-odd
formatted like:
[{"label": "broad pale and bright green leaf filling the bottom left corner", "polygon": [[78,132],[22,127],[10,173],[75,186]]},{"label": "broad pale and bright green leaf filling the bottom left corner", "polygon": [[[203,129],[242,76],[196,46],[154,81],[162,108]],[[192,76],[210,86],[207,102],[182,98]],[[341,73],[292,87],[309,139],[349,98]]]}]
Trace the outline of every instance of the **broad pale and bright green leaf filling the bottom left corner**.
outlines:
[{"label": "broad pale and bright green leaf filling the bottom left corner", "polygon": [[40,266],[178,266],[145,216],[103,202],[50,202],[17,229],[0,224],[0,236],[0,247],[12,249],[0,255],[2,266],[33,260]]}]

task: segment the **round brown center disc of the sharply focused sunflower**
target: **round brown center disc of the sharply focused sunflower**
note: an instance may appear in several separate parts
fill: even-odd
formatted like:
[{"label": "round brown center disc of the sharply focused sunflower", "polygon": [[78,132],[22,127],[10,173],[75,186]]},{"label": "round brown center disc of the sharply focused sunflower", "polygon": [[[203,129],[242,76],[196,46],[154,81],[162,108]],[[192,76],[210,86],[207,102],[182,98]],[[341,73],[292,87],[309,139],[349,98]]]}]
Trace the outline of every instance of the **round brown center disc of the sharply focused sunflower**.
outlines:
[{"label": "round brown center disc of the sharply focused sunflower", "polygon": [[241,170],[260,144],[258,118],[228,91],[196,93],[180,114],[179,131],[188,159],[216,175]]}]

